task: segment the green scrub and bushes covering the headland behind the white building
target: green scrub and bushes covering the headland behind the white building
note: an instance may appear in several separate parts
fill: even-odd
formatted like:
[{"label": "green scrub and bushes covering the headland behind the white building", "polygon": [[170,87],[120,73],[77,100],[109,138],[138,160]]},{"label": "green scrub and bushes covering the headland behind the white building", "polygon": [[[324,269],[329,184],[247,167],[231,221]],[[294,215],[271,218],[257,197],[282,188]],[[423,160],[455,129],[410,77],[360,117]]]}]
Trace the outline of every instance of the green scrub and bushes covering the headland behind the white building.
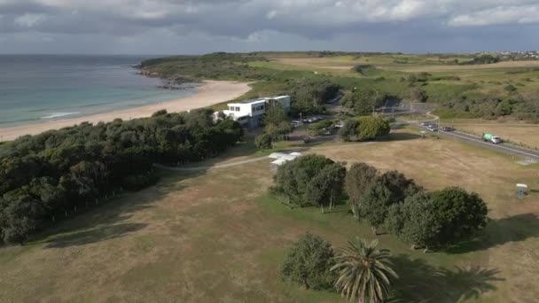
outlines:
[{"label": "green scrub and bushes covering the headland behind the white building", "polygon": [[[272,66],[271,56],[281,53],[255,52],[246,54],[214,53],[204,56],[176,56],[142,62],[143,72],[156,73],[171,80],[198,81],[202,79],[256,82],[246,97],[288,94],[293,96],[292,115],[324,113],[324,103],[336,97],[339,90],[347,92],[343,104],[355,114],[372,113],[387,100],[406,99],[439,105],[436,112],[442,118],[487,118],[511,116],[522,120],[539,121],[539,99],[530,94],[528,83],[535,82],[533,69],[514,69],[512,74],[526,74],[516,82],[511,79],[482,81],[461,79],[458,74],[404,73],[385,71],[368,64],[355,64],[349,74],[316,73],[306,69]],[[290,53],[298,56],[298,53]],[[385,62],[394,58],[399,64],[477,65],[496,63],[492,55],[459,56],[430,54],[405,56],[384,53],[305,52],[307,58],[379,58]],[[434,58],[436,60],[434,60]],[[510,73],[508,72],[508,73]],[[354,75],[355,74],[355,75]],[[502,85],[503,84],[503,85]],[[509,87],[511,90],[488,91],[482,86]],[[526,90],[520,92],[520,90]]]}]

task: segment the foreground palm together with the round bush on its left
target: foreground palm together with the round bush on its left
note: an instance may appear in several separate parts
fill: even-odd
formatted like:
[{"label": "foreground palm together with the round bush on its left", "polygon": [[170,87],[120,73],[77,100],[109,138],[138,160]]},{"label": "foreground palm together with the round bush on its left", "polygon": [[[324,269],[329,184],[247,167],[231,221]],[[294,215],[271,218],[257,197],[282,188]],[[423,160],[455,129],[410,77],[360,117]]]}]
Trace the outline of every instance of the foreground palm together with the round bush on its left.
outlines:
[{"label": "foreground palm together with the round bush on its left", "polygon": [[398,278],[390,253],[377,249],[378,241],[349,241],[335,253],[323,238],[306,234],[294,243],[281,265],[281,277],[306,289],[334,287],[349,301],[382,302]]}]

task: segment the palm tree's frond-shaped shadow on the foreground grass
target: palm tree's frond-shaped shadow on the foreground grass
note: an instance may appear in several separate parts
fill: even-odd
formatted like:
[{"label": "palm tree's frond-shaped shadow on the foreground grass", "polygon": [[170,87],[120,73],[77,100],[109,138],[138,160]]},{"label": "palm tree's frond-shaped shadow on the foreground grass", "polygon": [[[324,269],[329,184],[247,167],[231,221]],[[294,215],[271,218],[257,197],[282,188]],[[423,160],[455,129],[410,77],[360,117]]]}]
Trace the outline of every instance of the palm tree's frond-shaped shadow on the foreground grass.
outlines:
[{"label": "palm tree's frond-shaped shadow on the foreground grass", "polygon": [[504,281],[497,269],[479,267],[453,269],[435,268],[425,260],[411,260],[409,255],[394,257],[394,270],[399,279],[394,284],[394,296],[402,302],[458,302],[477,299],[493,284]]}]

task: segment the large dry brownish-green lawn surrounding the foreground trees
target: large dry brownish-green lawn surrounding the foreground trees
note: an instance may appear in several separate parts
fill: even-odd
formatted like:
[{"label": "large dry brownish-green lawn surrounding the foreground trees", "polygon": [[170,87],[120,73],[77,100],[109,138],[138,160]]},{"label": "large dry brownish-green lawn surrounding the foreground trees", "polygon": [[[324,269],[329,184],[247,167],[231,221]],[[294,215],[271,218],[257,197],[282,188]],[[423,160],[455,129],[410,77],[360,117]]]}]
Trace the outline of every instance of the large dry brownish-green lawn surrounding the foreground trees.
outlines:
[{"label": "large dry brownish-green lawn surrounding the foreground trees", "polygon": [[[373,144],[313,144],[306,152],[398,169],[429,190],[480,192],[492,221],[484,234],[444,253],[411,251],[392,236],[403,301],[530,302],[539,296],[539,167],[449,139],[399,130]],[[222,161],[246,159],[251,145]],[[260,154],[252,154],[252,157]],[[514,183],[527,183],[526,198]],[[372,238],[347,206],[330,214],[290,209],[267,194],[269,160],[193,173],[166,173],[156,186],[64,221],[28,245],[0,249],[0,301],[344,302],[336,293],[279,281],[286,248],[306,231],[340,247]]]}]

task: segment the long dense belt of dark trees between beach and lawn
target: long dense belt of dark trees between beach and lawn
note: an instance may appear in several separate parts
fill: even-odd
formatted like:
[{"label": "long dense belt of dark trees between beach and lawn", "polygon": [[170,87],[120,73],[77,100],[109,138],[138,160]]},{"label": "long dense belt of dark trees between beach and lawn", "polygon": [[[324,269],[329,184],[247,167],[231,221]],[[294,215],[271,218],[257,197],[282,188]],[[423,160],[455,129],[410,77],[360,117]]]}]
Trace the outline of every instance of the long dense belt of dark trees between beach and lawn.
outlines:
[{"label": "long dense belt of dark trees between beach and lawn", "polygon": [[77,205],[154,183],[153,163],[206,159],[241,136],[237,122],[198,110],[20,137],[0,146],[0,233],[22,244]]}]

